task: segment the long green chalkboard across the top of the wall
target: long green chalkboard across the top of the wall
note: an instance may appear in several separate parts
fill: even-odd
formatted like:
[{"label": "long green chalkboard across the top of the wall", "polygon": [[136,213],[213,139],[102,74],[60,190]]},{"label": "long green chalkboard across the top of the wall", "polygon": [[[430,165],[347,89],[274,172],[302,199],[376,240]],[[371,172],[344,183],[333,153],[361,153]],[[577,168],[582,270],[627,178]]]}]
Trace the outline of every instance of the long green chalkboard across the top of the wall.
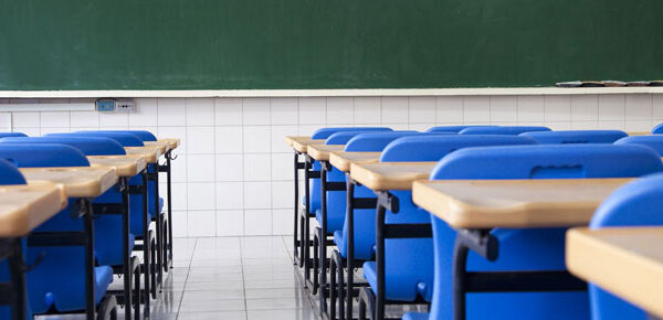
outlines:
[{"label": "long green chalkboard across the top of the wall", "polygon": [[0,89],[654,78],[662,0],[0,0]]}]

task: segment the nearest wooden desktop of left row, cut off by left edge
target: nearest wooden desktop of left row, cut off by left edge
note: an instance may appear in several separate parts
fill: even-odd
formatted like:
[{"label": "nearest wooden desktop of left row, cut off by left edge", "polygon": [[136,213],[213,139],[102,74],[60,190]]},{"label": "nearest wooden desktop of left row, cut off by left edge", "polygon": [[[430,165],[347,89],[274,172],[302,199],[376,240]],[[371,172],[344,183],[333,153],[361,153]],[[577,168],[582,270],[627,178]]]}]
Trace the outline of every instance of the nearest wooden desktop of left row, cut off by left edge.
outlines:
[{"label": "nearest wooden desktop of left row, cut off by left edge", "polygon": [[0,238],[25,236],[65,206],[64,190],[52,182],[0,185]]}]

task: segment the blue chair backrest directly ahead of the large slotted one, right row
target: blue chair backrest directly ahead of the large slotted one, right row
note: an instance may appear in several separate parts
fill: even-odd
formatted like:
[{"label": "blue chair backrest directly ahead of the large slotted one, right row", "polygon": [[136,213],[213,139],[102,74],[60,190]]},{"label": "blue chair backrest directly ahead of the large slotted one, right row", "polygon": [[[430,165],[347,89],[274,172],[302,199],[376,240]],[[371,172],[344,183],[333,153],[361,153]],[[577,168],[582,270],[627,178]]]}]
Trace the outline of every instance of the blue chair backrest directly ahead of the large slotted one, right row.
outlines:
[{"label": "blue chair backrest directly ahead of the large slotted one, right row", "polygon": [[448,153],[462,148],[515,145],[536,145],[536,141],[526,137],[492,135],[404,137],[389,143],[382,151],[380,161],[439,161]]}]

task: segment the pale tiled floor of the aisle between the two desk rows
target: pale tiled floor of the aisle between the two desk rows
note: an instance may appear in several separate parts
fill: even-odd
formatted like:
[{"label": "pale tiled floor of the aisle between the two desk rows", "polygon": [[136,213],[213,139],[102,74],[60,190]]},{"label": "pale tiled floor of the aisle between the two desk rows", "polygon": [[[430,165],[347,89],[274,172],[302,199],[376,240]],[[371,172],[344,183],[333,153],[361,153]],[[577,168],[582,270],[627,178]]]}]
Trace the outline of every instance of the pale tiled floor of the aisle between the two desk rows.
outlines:
[{"label": "pale tiled floor of the aisle between the two desk rows", "polygon": [[292,237],[173,239],[175,268],[151,302],[150,319],[317,320],[286,243]]}]

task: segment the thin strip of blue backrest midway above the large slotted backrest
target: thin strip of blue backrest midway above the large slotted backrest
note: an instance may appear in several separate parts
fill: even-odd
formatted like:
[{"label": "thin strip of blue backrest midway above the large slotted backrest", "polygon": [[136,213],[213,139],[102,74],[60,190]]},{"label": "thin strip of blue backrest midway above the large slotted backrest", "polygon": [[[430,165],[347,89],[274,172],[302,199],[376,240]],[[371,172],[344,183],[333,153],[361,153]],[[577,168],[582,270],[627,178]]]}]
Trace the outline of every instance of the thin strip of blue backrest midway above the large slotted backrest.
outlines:
[{"label": "thin strip of blue backrest midway above the large slotted backrest", "polygon": [[570,143],[612,143],[627,132],[620,130],[569,130],[569,131],[534,131],[520,134],[536,140],[540,145],[570,145]]}]

